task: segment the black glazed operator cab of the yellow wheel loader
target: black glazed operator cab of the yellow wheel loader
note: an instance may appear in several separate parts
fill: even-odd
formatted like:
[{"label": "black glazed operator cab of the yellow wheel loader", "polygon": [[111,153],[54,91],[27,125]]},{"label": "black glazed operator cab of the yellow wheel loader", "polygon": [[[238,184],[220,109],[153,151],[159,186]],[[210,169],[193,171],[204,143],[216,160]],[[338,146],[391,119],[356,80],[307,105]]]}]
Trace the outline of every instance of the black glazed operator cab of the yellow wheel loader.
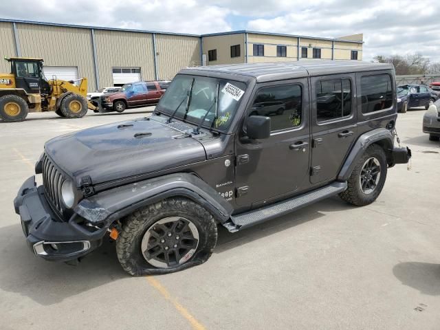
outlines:
[{"label": "black glazed operator cab of the yellow wheel loader", "polygon": [[15,85],[23,88],[28,94],[39,94],[41,88],[41,72],[36,61],[14,62]]}]

